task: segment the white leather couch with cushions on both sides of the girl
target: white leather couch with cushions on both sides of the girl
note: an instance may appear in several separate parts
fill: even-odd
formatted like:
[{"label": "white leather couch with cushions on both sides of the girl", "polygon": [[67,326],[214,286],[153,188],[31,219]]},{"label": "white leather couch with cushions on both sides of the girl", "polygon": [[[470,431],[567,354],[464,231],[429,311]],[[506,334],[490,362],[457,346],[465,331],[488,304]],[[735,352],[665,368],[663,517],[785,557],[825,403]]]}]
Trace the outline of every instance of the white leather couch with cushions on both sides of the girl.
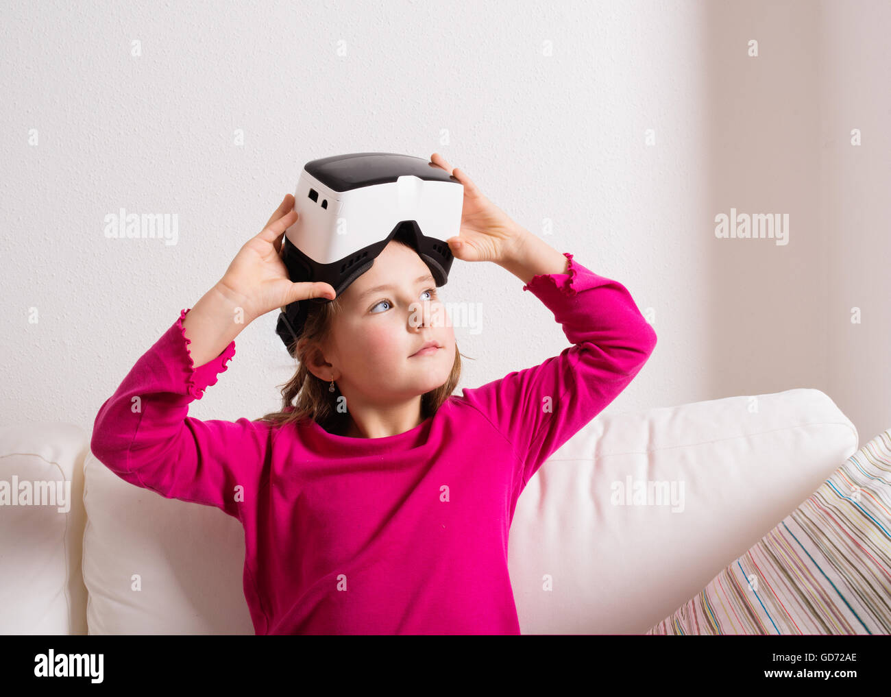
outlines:
[{"label": "white leather couch with cushions on both sides of the girl", "polygon": [[[0,505],[0,633],[253,634],[239,521],[127,484],[89,442],[64,423],[0,430],[0,486],[70,484],[67,511]],[[857,447],[817,389],[601,414],[519,499],[509,566],[521,631],[646,632]],[[637,481],[674,482],[683,510],[617,501]]]}]

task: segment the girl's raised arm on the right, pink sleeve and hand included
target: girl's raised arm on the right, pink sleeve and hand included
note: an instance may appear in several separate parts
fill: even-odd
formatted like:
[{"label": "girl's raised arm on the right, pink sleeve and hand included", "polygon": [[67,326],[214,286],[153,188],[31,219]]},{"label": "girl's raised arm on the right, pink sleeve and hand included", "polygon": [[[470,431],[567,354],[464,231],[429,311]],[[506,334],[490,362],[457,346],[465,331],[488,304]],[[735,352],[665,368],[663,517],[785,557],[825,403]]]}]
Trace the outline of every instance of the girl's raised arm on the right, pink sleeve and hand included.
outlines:
[{"label": "girl's raised arm on the right, pink sleeve and hand included", "polygon": [[572,344],[541,365],[463,390],[464,403],[511,443],[519,461],[519,496],[548,456],[634,379],[656,347],[656,332],[624,285],[594,274],[571,254],[561,256],[439,153],[431,164],[464,186],[461,234],[447,241],[454,256],[492,261],[517,276],[524,291],[552,310]]}]

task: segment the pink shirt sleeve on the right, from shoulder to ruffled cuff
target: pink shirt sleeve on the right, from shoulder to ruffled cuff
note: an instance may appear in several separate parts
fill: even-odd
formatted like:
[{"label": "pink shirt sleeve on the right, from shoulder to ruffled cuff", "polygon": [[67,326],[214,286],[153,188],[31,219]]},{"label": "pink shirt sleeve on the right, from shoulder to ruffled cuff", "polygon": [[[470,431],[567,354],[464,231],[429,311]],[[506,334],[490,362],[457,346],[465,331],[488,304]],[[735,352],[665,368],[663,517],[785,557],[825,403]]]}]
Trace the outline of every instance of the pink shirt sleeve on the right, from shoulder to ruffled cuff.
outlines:
[{"label": "pink shirt sleeve on the right, from shoulder to ruffled cuff", "polygon": [[[518,492],[625,389],[656,346],[656,332],[624,285],[563,256],[566,273],[535,275],[523,290],[552,310],[572,346],[541,365],[463,390],[462,398],[511,442],[521,463]],[[523,263],[503,266],[517,273]]]}]

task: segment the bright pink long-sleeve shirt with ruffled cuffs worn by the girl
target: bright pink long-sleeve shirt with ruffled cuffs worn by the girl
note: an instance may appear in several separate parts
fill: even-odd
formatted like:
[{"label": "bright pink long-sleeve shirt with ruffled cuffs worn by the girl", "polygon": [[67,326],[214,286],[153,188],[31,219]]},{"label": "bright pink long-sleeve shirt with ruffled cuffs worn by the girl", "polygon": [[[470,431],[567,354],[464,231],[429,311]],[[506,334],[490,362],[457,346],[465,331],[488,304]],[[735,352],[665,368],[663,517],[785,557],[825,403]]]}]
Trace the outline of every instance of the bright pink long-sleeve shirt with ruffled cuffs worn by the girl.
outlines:
[{"label": "bright pink long-sleeve shirt with ruffled cuffs worn by the girl", "polygon": [[572,346],[464,389],[405,433],[188,416],[235,342],[195,368],[183,310],[102,405],[93,453],[136,486],[241,521],[257,634],[519,634],[508,574],[519,495],[656,345],[625,286],[564,256],[567,273],[523,290]]}]

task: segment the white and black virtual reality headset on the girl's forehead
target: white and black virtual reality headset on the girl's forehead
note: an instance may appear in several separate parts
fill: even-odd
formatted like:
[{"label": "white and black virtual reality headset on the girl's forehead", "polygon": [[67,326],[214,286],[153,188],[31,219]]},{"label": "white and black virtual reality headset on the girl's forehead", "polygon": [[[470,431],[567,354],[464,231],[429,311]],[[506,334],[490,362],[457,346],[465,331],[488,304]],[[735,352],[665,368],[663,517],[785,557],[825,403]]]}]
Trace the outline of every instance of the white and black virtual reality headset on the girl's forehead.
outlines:
[{"label": "white and black virtual reality headset on the girl's forehead", "polygon": [[[372,267],[396,235],[409,242],[445,285],[454,256],[446,240],[459,234],[464,187],[423,158],[354,152],[307,162],[294,193],[297,221],[282,239],[282,261],[294,283],[330,283],[339,296]],[[284,307],[275,332],[290,355],[309,303]]]}]

